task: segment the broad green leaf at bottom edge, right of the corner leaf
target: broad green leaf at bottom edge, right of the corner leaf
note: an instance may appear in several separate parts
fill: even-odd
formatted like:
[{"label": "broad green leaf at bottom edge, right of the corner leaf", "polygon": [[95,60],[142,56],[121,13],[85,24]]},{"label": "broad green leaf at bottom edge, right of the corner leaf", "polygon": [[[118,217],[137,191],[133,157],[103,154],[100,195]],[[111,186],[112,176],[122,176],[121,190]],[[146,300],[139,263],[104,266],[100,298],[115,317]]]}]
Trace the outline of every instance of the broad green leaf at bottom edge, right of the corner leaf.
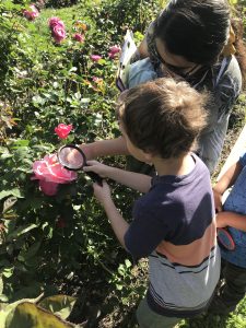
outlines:
[{"label": "broad green leaf at bottom edge, right of the corner leaf", "polygon": [[70,315],[75,301],[77,298],[72,296],[55,295],[44,298],[38,303],[38,306],[66,319]]}]

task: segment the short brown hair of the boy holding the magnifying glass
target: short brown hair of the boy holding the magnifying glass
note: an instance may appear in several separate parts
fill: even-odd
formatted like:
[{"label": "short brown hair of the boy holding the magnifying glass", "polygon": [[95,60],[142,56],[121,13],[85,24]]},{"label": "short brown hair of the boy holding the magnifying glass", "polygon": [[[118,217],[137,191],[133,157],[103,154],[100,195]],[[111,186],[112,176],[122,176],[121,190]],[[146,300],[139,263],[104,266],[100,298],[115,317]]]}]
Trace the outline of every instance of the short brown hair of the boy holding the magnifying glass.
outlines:
[{"label": "short brown hair of the boy holding the magnifying glass", "polygon": [[189,152],[206,126],[208,96],[183,81],[156,79],[130,89],[120,98],[118,116],[130,141],[162,159]]}]

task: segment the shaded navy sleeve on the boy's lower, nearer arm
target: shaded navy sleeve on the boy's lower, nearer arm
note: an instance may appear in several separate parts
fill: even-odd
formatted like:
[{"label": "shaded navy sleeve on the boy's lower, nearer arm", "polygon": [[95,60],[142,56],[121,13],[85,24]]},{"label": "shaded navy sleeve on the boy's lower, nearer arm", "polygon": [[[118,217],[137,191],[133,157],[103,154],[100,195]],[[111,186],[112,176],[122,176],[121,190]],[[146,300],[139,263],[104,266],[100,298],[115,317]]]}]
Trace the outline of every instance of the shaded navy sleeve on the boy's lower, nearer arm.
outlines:
[{"label": "shaded navy sleeve on the boy's lower, nearer arm", "polygon": [[[160,216],[159,211],[153,208],[138,203],[133,211],[133,221],[126,235],[125,245],[134,260],[149,256],[171,231],[166,220],[163,220],[163,212]],[[165,208],[168,215],[168,210]]]}]

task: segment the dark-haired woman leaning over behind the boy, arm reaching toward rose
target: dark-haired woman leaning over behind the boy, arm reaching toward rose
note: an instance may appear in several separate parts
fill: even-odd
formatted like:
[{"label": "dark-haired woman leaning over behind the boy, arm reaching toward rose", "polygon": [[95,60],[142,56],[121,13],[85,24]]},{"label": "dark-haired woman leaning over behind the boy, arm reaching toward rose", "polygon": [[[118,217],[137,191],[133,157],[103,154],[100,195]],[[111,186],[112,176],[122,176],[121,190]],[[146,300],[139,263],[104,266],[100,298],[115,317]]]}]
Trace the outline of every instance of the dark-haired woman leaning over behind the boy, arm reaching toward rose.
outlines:
[{"label": "dark-haired woman leaning over behind the boy, arm reaching toward rose", "polygon": [[[198,154],[211,173],[242,89],[234,42],[225,0],[173,0],[150,25],[139,47],[140,58],[148,58],[134,62],[130,70],[130,87],[168,74],[186,80],[198,91],[210,92],[209,122],[200,136]],[[122,138],[96,141],[82,149],[89,159],[128,153]]]}]

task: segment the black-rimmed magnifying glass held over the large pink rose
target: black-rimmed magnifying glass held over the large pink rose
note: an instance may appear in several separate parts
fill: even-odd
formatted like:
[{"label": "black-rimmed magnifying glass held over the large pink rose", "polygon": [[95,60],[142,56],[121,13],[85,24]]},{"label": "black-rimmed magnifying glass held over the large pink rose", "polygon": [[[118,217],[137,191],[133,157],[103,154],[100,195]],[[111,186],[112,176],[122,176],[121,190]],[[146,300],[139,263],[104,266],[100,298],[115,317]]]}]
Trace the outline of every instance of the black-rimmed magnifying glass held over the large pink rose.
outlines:
[{"label": "black-rimmed magnifying glass held over the large pink rose", "polygon": [[[84,152],[74,144],[62,145],[58,152],[57,157],[59,163],[67,169],[70,171],[80,171],[84,166],[89,166],[86,163],[86,156]],[[99,186],[103,186],[103,178],[95,172],[85,172],[93,181],[97,183]]]}]

